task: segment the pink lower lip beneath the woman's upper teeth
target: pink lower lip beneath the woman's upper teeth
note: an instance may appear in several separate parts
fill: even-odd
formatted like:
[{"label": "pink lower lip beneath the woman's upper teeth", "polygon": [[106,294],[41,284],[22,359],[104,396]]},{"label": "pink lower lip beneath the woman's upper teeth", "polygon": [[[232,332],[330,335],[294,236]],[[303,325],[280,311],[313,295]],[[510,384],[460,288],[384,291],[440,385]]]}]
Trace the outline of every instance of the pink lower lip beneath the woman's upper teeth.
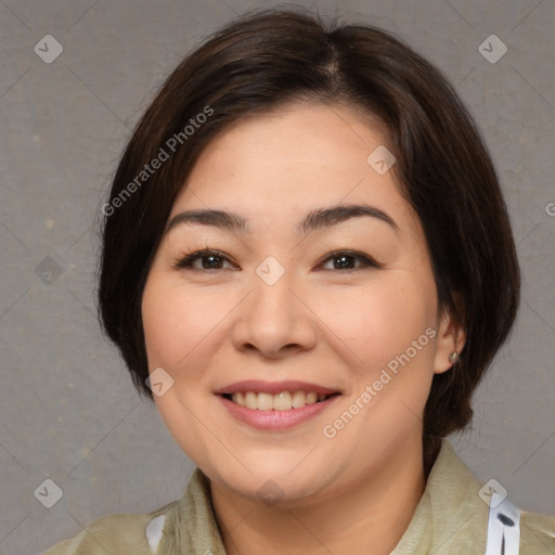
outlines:
[{"label": "pink lower lip beneath the woman's upper teeth", "polygon": [[223,405],[230,413],[241,422],[244,422],[254,428],[268,430],[289,429],[306,422],[322,411],[325,411],[339,396],[335,395],[325,401],[314,404],[307,404],[301,409],[291,409],[288,411],[259,411],[258,409],[247,409],[241,404],[230,401],[225,397],[218,396]]}]

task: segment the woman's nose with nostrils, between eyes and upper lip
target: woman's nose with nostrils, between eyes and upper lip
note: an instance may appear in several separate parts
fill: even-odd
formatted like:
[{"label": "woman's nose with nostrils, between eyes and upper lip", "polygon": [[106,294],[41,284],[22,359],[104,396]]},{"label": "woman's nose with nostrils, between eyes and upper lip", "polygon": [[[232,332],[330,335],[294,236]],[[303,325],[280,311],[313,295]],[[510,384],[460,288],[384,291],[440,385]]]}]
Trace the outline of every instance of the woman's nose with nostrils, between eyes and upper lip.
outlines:
[{"label": "woman's nose with nostrils, between eyes and upper lip", "polygon": [[253,292],[235,313],[231,331],[237,350],[280,359],[314,347],[317,317],[293,285],[287,272],[273,284],[254,275]]}]

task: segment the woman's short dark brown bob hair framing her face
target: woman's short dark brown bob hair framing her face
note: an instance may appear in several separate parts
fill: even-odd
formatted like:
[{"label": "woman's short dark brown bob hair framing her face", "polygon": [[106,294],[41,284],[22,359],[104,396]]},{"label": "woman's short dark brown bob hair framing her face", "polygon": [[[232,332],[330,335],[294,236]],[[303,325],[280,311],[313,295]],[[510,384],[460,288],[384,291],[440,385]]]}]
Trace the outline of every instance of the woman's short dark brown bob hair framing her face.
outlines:
[{"label": "woman's short dark brown bob hair framing her face", "polygon": [[255,11],[181,62],[139,121],[102,207],[104,332],[152,399],[141,300],[176,196],[203,149],[232,122],[294,102],[349,106],[388,131],[396,186],[422,223],[439,307],[466,332],[459,362],[434,376],[425,408],[425,446],[437,446],[472,418],[473,391],[516,317],[519,268],[473,117],[437,68],[379,28]]}]

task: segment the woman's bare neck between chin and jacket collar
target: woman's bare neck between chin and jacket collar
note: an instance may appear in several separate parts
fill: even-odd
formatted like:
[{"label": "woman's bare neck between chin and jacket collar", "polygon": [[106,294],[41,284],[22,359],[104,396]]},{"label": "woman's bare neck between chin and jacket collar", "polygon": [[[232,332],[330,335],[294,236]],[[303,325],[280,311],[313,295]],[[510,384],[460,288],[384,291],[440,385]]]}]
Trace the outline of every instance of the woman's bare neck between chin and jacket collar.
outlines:
[{"label": "woman's bare neck between chin and jacket collar", "polygon": [[372,469],[356,487],[310,504],[266,506],[212,483],[228,555],[388,555],[426,487],[422,438]]}]

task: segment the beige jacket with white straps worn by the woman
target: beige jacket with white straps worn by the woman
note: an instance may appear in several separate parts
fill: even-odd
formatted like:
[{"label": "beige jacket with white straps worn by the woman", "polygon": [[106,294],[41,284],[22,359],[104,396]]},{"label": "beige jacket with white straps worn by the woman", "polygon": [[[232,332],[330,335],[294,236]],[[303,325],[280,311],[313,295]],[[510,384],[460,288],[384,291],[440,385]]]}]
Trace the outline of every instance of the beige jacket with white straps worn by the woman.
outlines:
[{"label": "beige jacket with white straps worn by the woman", "polygon": [[[443,440],[390,555],[555,555],[555,516],[520,512],[495,488],[482,487]],[[43,555],[153,554],[225,555],[209,481],[198,468],[180,501],[145,515],[105,516]]]}]

